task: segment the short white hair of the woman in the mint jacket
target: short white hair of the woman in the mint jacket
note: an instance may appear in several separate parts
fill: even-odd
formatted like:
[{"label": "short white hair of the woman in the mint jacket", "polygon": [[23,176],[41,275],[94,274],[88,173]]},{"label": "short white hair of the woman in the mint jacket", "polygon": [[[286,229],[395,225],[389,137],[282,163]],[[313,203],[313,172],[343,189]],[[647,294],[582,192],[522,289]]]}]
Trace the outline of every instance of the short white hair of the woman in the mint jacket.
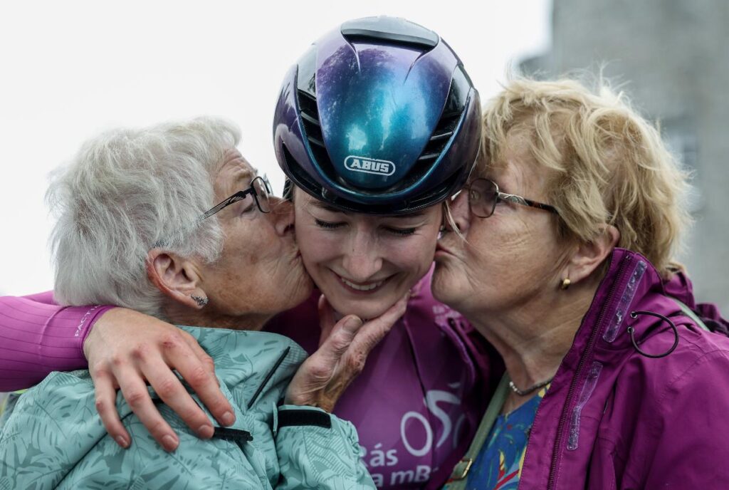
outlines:
[{"label": "short white hair of the woman in the mint jacket", "polygon": [[219,222],[200,216],[215,205],[214,177],[240,138],[233,123],[200,117],[87,141],[52,174],[46,195],[58,214],[55,299],[163,316],[162,293],[147,279],[147,252],[160,247],[203,263],[219,258]]}]

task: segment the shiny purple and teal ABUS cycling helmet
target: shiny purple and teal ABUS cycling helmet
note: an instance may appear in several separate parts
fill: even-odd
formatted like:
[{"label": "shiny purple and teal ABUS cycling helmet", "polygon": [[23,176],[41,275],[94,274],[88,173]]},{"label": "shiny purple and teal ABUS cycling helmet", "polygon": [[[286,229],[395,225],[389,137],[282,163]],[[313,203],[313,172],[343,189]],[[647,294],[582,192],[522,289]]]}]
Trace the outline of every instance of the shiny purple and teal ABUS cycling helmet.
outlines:
[{"label": "shiny purple and teal ABUS cycling helmet", "polygon": [[480,114],[477,90],[440,36],[405,19],[363,18],[321,37],[286,74],[273,144],[289,181],[313,197],[403,214],[463,186]]}]

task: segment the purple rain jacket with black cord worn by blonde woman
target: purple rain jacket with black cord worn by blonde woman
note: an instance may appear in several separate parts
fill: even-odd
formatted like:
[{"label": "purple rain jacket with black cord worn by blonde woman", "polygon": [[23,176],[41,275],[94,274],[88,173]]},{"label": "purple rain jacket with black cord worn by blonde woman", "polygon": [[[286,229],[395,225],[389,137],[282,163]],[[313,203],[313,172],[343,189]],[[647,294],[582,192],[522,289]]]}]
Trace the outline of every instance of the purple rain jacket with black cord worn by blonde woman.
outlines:
[{"label": "purple rain jacket with black cord worn by blonde woman", "polygon": [[[729,488],[729,338],[707,333],[682,273],[663,282],[640,254],[615,249],[572,347],[539,405],[519,483],[526,489]],[[645,357],[639,348],[668,351]]]}]

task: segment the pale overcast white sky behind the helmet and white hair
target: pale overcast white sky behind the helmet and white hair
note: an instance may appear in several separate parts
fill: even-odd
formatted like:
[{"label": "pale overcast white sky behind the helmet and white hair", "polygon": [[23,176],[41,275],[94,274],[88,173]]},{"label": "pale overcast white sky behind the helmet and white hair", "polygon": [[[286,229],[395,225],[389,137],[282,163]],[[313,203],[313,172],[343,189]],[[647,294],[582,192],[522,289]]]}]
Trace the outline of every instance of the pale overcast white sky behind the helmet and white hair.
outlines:
[{"label": "pale overcast white sky behind the helmet and white hair", "polygon": [[[0,7],[0,293],[52,288],[47,174],[119,125],[216,114],[276,193],[271,142],[284,73],[344,20],[437,31],[482,98],[508,63],[549,48],[550,1],[15,1]],[[478,7],[473,7],[478,5]]]}]

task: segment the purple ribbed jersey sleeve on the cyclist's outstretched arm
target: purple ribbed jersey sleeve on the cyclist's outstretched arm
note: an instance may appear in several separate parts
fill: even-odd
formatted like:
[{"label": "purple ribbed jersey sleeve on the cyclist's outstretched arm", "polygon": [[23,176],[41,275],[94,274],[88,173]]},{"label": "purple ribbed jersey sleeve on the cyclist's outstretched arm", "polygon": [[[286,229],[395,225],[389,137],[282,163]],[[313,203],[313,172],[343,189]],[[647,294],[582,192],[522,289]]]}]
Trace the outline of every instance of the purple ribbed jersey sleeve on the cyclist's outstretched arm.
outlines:
[{"label": "purple ribbed jersey sleeve on the cyclist's outstretched arm", "polygon": [[58,306],[52,292],[0,298],[0,392],[28,388],[51,371],[87,368],[82,346],[113,306]]}]

